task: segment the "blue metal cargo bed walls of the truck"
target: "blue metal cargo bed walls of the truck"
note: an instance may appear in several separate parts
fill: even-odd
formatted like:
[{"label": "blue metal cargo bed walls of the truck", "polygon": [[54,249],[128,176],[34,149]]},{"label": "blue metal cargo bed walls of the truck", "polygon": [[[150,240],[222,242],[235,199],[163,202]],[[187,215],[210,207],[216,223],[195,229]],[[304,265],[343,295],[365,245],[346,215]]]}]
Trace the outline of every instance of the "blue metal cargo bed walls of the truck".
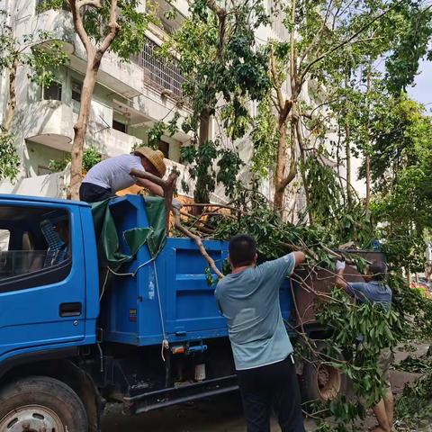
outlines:
[{"label": "blue metal cargo bed walls of the truck", "polygon": [[[121,238],[123,253],[129,248],[123,232],[148,227],[145,202],[140,196],[127,195],[110,204]],[[228,257],[228,242],[205,240],[207,252],[221,267]],[[103,338],[107,341],[149,346],[169,342],[223,338],[228,336],[224,318],[214,299],[215,284],[206,281],[207,263],[190,238],[166,238],[156,261],[151,261],[147,245],[136,258],[110,275],[101,303]],[[214,276],[216,280],[216,277]],[[292,310],[291,282],[281,290],[285,320]]]}]

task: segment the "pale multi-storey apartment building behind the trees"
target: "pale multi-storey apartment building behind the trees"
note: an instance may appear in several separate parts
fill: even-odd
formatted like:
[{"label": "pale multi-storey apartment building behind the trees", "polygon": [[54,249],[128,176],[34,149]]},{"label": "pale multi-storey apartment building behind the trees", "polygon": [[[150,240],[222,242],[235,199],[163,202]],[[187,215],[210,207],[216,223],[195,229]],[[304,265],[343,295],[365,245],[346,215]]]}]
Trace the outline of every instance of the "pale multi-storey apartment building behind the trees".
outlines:
[{"label": "pale multi-storey apartment building behind the trees", "polygon": [[[14,34],[21,39],[25,34],[38,30],[52,32],[56,38],[65,42],[69,58],[67,67],[58,70],[56,82],[49,88],[41,88],[28,78],[26,67],[18,70],[17,106],[14,132],[17,148],[22,158],[22,171],[14,184],[3,181],[0,193],[23,193],[41,196],[66,195],[68,171],[52,172],[50,161],[63,160],[72,147],[73,125],[77,118],[81,97],[81,85],[85,74],[85,49],[76,36],[71,14],[66,9],[38,13],[41,0],[0,0],[0,8],[10,15],[9,25]],[[169,22],[164,12],[171,7],[177,10],[175,20]],[[267,0],[268,13],[275,9],[275,0]],[[142,7],[145,7],[143,2]],[[170,121],[179,112],[181,121],[188,114],[188,103],[182,92],[183,76],[176,67],[175,58],[169,64],[160,62],[155,50],[169,31],[181,25],[188,14],[187,0],[157,2],[161,27],[150,25],[146,34],[143,51],[129,63],[124,63],[112,53],[106,53],[99,70],[97,84],[92,100],[86,146],[94,146],[103,157],[112,157],[130,152],[136,145],[146,145],[148,129],[156,121]],[[258,43],[266,40],[287,40],[288,31],[284,27],[282,15],[275,16],[268,27],[257,29]],[[0,119],[4,115],[7,80],[0,76]],[[289,86],[286,85],[286,93]],[[305,86],[303,100],[311,102],[308,86]],[[251,103],[252,115],[257,112],[257,103]],[[213,134],[223,132],[218,129],[218,121],[212,121]],[[162,137],[159,142],[166,156],[166,164],[180,172],[181,178],[192,187],[179,193],[192,196],[191,182],[187,167],[182,164],[180,148],[190,145],[191,137],[177,131],[173,137]],[[253,145],[249,137],[241,139],[238,148],[242,160],[252,157]],[[239,174],[245,183],[250,179],[246,164]],[[297,188],[298,189],[298,188]],[[273,184],[265,181],[262,192],[273,198]],[[304,195],[299,191],[288,190],[288,206],[302,209]],[[225,201],[223,187],[217,187],[211,201]],[[294,202],[296,202],[295,205]]]}]

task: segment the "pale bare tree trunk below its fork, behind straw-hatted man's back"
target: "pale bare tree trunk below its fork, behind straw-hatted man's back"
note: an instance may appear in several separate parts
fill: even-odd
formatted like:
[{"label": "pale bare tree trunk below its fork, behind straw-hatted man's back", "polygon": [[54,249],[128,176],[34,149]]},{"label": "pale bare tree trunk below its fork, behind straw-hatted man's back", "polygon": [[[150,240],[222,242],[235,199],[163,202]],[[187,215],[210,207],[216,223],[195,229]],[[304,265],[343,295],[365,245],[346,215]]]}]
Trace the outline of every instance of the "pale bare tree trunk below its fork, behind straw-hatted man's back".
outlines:
[{"label": "pale bare tree trunk below its fork, behind straw-hatted man's back", "polygon": [[87,60],[83,89],[81,92],[81,103],[79,105],[78,120],[74,125],[74,143],[71,150],[70,167],[70,198],[79,200],[79,186],[82,181],[83,170],[83,150],[85,143],[85,133],[88,127],[88,119],[92,105],[92,95],[96,84],[97,72],[102,58],[95,58],[94,54]]}]

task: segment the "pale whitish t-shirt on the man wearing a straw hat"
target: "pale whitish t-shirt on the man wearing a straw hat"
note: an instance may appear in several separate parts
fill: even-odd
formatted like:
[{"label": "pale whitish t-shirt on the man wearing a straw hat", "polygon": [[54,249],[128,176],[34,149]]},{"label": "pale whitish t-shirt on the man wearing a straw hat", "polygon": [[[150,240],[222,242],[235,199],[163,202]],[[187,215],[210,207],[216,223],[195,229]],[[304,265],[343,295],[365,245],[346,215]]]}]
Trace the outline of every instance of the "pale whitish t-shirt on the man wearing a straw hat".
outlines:
[{"label": "pale whitish t-shirt on the man wearing a straw hat", "polygon": [[116,193],[136,183],[136,179],[129,174],[132,168],[145,171],[139,156],[121,155],[109,157],[93,166],[85,175],[83,183],[96,184],[105,189],[111,189],[112,193]]}]

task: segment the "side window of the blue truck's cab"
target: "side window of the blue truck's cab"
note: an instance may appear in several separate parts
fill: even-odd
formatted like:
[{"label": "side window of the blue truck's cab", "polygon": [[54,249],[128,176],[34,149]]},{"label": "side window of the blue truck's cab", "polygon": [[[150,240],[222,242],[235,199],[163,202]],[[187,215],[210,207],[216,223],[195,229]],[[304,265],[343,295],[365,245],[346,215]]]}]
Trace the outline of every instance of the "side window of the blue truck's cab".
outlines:
[{"label": "side window of the blue truck's cab", "polygon": [[[29,281],[31,275],[49,272],[50,278],[43,277],[40,284],[66,277],[63,267],[71,264],[69,225],[65,210],[0,206],[0,290],[24,276]],[[38,284],[33,281],[31,286]]]}]

